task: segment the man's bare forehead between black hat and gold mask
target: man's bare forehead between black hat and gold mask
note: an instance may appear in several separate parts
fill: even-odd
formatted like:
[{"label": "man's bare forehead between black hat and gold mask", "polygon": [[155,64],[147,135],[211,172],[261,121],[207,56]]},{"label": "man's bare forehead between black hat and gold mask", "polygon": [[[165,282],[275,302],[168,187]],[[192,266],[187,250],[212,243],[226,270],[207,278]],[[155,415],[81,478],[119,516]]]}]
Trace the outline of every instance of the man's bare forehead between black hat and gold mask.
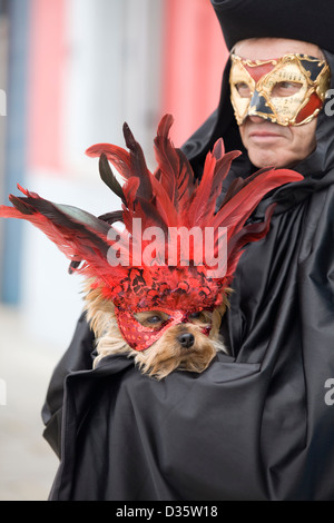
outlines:
[{"label": "man's bare forehead between black hat and gold mask", "polygon": [[308,55],[323,59],[321,49],[314,43],[285,38],[250,38],[237,42],[233,53],[249,60],[269,60],[284,55]]}]

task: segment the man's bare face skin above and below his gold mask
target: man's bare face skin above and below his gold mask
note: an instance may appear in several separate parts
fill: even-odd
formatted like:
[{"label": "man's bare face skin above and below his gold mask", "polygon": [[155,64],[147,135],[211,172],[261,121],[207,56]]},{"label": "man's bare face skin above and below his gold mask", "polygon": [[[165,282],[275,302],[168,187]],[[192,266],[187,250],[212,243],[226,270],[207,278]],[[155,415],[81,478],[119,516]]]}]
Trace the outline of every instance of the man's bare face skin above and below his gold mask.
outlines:
[{"label": "man's bare face skin above and below his gold mask", "polygon": [[[316,46],[297,40],[274,38],[243,40],[234,49],[234,55],[249,60],[274,59],[288,53],[323,59]],[[293,95],[295,86],[285,83],[282,96]],[[239,126],[239,131],[255,167],[293,167],[315,149],[316,124],[317,118],[314,118],[301,126],[282,126],[259,116],[248,116]]]}]

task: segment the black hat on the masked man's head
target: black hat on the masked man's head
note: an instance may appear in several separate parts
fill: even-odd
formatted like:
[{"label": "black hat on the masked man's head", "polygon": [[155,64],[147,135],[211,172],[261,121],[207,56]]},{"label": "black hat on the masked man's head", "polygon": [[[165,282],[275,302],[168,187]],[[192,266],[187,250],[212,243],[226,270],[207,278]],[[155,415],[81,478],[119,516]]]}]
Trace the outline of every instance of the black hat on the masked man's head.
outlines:
[{"label": "black hat on the masked man's head", "polygon": [[287,38],[334,52],[331,0],[212,0],[230,50],[248,38]]}]

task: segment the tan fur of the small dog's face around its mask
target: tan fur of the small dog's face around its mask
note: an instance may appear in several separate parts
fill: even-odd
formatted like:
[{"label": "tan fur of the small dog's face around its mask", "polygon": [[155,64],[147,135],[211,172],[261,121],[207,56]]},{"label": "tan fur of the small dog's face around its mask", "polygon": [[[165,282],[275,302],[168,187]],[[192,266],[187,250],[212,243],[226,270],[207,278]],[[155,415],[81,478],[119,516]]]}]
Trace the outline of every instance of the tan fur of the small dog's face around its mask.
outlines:
[{"label": "tan fur of the small dog's face around its mask", "polygon": [[[166,377],[176,368],[195,373],[205,371],[218,351],[226,352],[219,336],[219,326],[228,306],[227,295],[228,293],[224,295],[223,304],[212,314],[202,312],[191,323],[170,326],[150,347],[138,352],[129,347],[121,336],[114,304],[101,296],[100,289],[90,288],[86,293],[86,310],[87,319],[96,336],[98,355],[95,366],[106,356],[125,354],[135,358],[136,365],[143,373],[157,379]],[[135,314],[135,320],[146,327],[151,326],[148,322],[151,316],[159,316],[161,322],[166,319],[164,313],[153,310]],[[212,325],[212,329],[209,336],[206,336],[202,329],[208,325]],[[181,346],[178,341],[178,337],[186,333],[193,334],[195,338],[189,348]]]}]

